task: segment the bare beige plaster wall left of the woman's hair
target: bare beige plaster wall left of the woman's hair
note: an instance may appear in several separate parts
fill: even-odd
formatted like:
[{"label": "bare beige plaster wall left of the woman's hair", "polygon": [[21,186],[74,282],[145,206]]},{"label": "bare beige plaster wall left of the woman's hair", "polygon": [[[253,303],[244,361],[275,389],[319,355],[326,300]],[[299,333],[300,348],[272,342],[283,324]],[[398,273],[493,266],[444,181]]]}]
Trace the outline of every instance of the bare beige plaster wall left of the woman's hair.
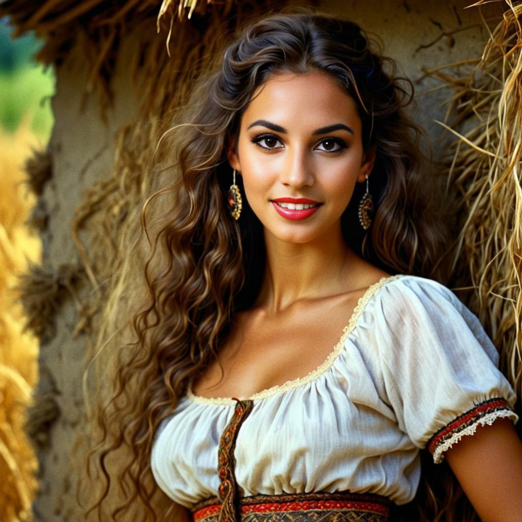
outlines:
[{"label": "bare beige plaster wall left of the woman's hair", "polygon": [[[71,233],[75,208],[86,191],[111,172],[117,130],[138,117],[139,92],[129,88],[126,68],[136,43],[136,37],[128,37],[118,55],[113,78],[116,97],[107,112],[108,123],[101,119],[97,97],[85,95],[89,71],[81,46],[56,70],[55,126],[49,145],[53,176],[42,195],[49,212],[48,227],[42,232],[43,260],[56,270],[64,264],[79,265]],[[38,390],[54,396],[57,418],[45,437],[49,443],[38,448],[40,493],[33,513],[39,522],[80,520],[74,489],[76,462],[70,452],[83,411],[81,376],[88,339],[75,334],[75,327],[78,308],[88,305],[93,291],[84,286],[76,299],[63,304],[56,316],[56,335],[40,348]]]}]

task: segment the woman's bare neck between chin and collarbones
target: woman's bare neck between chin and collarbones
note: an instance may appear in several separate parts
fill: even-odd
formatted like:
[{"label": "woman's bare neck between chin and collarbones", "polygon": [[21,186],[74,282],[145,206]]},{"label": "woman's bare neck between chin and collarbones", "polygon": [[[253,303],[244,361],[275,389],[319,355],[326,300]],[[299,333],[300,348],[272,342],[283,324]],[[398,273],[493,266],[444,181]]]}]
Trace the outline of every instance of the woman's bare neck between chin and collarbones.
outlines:
[{"label": "woman's bare neck between chin and collarbones", "polygon": [[256,306],[267,314],[293,303],[345,291],[348,272],[357,256],[342,239],[340,228],[314,241],[297,244],[265,230],[267,262]]}]

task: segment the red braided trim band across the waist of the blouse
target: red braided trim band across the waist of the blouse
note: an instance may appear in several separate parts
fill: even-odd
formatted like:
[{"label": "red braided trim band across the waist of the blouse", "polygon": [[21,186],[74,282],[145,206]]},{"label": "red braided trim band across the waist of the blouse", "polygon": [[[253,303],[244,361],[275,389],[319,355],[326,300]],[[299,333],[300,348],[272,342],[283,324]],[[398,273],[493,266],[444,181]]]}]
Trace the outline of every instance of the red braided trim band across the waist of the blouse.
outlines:
[{"label": "red braided trim band across the waist of the blouse", "polygon": [[[199,509],[193,514],[194,522],[215,515],[221,509],[220,504],[214,504]],[[296,501],[296,502],[265,502],[260,504],[241,506],[242,515],[248,513],[278,513],[286,511],[322,511],[339,509],[343,511],[361,511],[365,513],[377,513],[389,516],[389,508],[374,502],[319,500],[319,501]]]}]

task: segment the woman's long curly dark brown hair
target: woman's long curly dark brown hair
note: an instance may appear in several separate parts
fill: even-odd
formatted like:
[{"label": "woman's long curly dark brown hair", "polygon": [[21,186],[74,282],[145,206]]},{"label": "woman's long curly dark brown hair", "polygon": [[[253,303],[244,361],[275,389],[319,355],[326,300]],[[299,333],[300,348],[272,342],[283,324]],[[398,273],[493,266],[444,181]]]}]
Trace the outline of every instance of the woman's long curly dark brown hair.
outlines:
[{"label": "woman's long curly dark brown hair", "polygon": [[[363,145],[376,150],[370,178],[375,212],[371,228],[362,230],[357,204],[365,187],[357,184],[341,218],[349,247],[390,273],[444,282],[446,234],[434,217],[442,203],[433,197],[436,184],[420,152],[422,133],[405,111],[413,88],[397,77],[377,40],[333,16],[279,13],[236,35],[207,71],[158,144],[168,160],[157,172],[166,173],[170,182],[141,212],[151,245],[142,270],[146,294],[134,294],[141,309],[128,321],[132,337],[123,342],[117,336],[119,349],[112,353],[110,378],[103,383],[107,399],[99,400],[92,416],[98,441],[87,458],[88,475],[93,461],[103,490],[86,509],[86,518],[174,519],[172,502],[164,495],[158,501],[151,448],[158,425],[173,412],[189,379],[215,360],[235,313],[248,309],[260,290],[263,227],[248,201],[238,221],[229,216],[227,147],[238,138],[253,93],[272,75],[322,71],[357,103]],[[242,190],[241,179],[238,184]],[[151,214],[157,218],[151,220]],[[129,253],[129,263],[137,255]],[[137,284],[128,281],[128,274],[122,271],[120,287]],[[117,506],[110,505],[113,488]],[[444,511],[430,487],[426,491],[418,501],[424,512],[419,520]]]}]

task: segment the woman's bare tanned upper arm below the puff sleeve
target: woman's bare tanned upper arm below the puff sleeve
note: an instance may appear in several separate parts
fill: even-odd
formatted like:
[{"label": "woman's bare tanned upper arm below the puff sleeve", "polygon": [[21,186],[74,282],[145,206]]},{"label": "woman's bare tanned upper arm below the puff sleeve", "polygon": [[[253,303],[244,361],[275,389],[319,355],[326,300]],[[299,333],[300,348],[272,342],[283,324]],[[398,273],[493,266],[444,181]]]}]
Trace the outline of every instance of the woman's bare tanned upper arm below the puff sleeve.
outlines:
[{"label": "woman's bare tanned upper arm below the puff sleeve", "polygon": [[522,442],[511,420],[478,426],[446,459],[483,522],[522,520]]}]

